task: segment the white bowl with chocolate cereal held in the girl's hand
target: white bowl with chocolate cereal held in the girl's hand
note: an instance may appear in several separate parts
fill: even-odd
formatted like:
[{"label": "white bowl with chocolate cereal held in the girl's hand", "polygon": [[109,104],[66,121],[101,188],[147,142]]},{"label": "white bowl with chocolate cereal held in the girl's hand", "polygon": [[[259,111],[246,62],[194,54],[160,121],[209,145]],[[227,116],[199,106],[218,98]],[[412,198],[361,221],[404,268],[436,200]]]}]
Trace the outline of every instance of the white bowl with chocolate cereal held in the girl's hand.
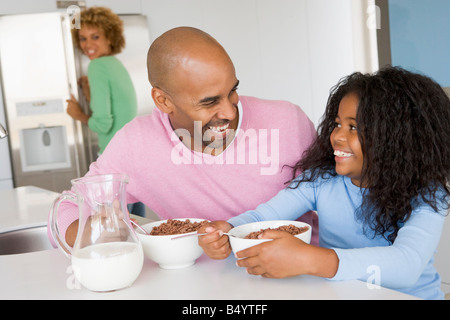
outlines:
[{"label": "white bowl with chocolate cereal held in the girl's hand", "polygon": [[232,228],[228,233],[230,245],[234,253],[247,249],[257,244],[272,241],[272,239],[259,239],[258,236],[264,231],[272,229],[285,231],[306,243],[311,242],[311,226],[300,221],[274,220],[260,221],[240,225]]}]

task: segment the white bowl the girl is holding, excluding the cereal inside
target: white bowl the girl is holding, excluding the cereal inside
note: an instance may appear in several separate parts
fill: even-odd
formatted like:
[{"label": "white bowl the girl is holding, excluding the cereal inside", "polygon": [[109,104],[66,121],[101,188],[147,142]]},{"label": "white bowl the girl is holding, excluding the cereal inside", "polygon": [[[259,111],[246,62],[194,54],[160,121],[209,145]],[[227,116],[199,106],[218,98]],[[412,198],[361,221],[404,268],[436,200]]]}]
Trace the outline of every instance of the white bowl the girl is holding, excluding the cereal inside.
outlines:
[{"label": "white bowl the girl is holding, excluding the cereal inside", "polygon": [[232,228],[228,233],[232,235],[229,237],[230,239],[230,245],[233,252],[236,254],[236,252],[239,252],[241,250],[256,246],[260,243],[266,242],[266,241],[272,241],[272,239],[244,239],[249,233],[251,232],[257,232],[262,229],[267,228],[278,228],[281,226],[286,225],[294,225],[296,227],[304,227],[308,226],[309,229],[303,233],[300,233],[296,235],[295,237],[303,240],[306,243],[311,242],[311,231],[312,228],[309,224],[300,222],[300,221],[288,221],[288,220],[274,220],[274,221],[260,221],[260,222],[252,222],[240,225],[238,227]]}]

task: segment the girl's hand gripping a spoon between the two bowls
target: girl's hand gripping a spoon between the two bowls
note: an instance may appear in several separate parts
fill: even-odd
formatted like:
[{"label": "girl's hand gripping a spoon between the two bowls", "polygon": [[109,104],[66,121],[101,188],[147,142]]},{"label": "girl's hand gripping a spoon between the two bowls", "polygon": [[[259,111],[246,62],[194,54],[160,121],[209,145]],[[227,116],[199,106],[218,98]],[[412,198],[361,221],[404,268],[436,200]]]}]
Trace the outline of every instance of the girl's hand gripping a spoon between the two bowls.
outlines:
[{"label": "girl's hand gripping a spoon between the two bowls", "polygon": [[226,221],[213,221],[197,231],[198,233],[209,233],[199,236],[198,244],[211,259],[225,259],[230,255],[230,242],[228,236],[224,236],[223,233],[228,232],[231,228],[231,224]]}]

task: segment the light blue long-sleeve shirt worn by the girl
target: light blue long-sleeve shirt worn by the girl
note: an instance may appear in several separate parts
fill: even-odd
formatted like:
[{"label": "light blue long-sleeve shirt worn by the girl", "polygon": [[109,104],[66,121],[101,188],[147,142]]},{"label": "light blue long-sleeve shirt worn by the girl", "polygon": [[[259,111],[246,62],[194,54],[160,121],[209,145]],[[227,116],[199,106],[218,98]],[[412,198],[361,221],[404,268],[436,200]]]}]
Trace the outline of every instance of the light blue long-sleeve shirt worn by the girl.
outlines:
[{"label": "light blue long-sleeve shirt worn by the girl", "polygon": [[228,220],[233,226],[264,220],[296,220],[315,210],[319,244],[333,249],[339,267],[332,280],[359,279],[424,299],[443,299],[441,279],[433,266],[446,215],[419,203],[390,244],[367,235],[355,212],[362,190],[345,176],[319,178],[298,188],[281,190],[274,198]]}]

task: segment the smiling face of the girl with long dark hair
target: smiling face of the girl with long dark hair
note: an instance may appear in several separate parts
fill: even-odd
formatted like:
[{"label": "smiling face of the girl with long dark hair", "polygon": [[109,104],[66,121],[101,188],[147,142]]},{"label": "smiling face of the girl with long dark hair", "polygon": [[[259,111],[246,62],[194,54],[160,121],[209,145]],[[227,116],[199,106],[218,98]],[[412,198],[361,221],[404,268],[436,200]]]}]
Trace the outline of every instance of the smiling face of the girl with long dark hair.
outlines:
[{"label": "smiling face of the girl with long dark hair", "polygon": [[336,172],[351,178],[354,185],[361,186],[363,152],[356,123],[358,104],[359,98],[354,93],[342,98],[330,142],[334,150]]}]

